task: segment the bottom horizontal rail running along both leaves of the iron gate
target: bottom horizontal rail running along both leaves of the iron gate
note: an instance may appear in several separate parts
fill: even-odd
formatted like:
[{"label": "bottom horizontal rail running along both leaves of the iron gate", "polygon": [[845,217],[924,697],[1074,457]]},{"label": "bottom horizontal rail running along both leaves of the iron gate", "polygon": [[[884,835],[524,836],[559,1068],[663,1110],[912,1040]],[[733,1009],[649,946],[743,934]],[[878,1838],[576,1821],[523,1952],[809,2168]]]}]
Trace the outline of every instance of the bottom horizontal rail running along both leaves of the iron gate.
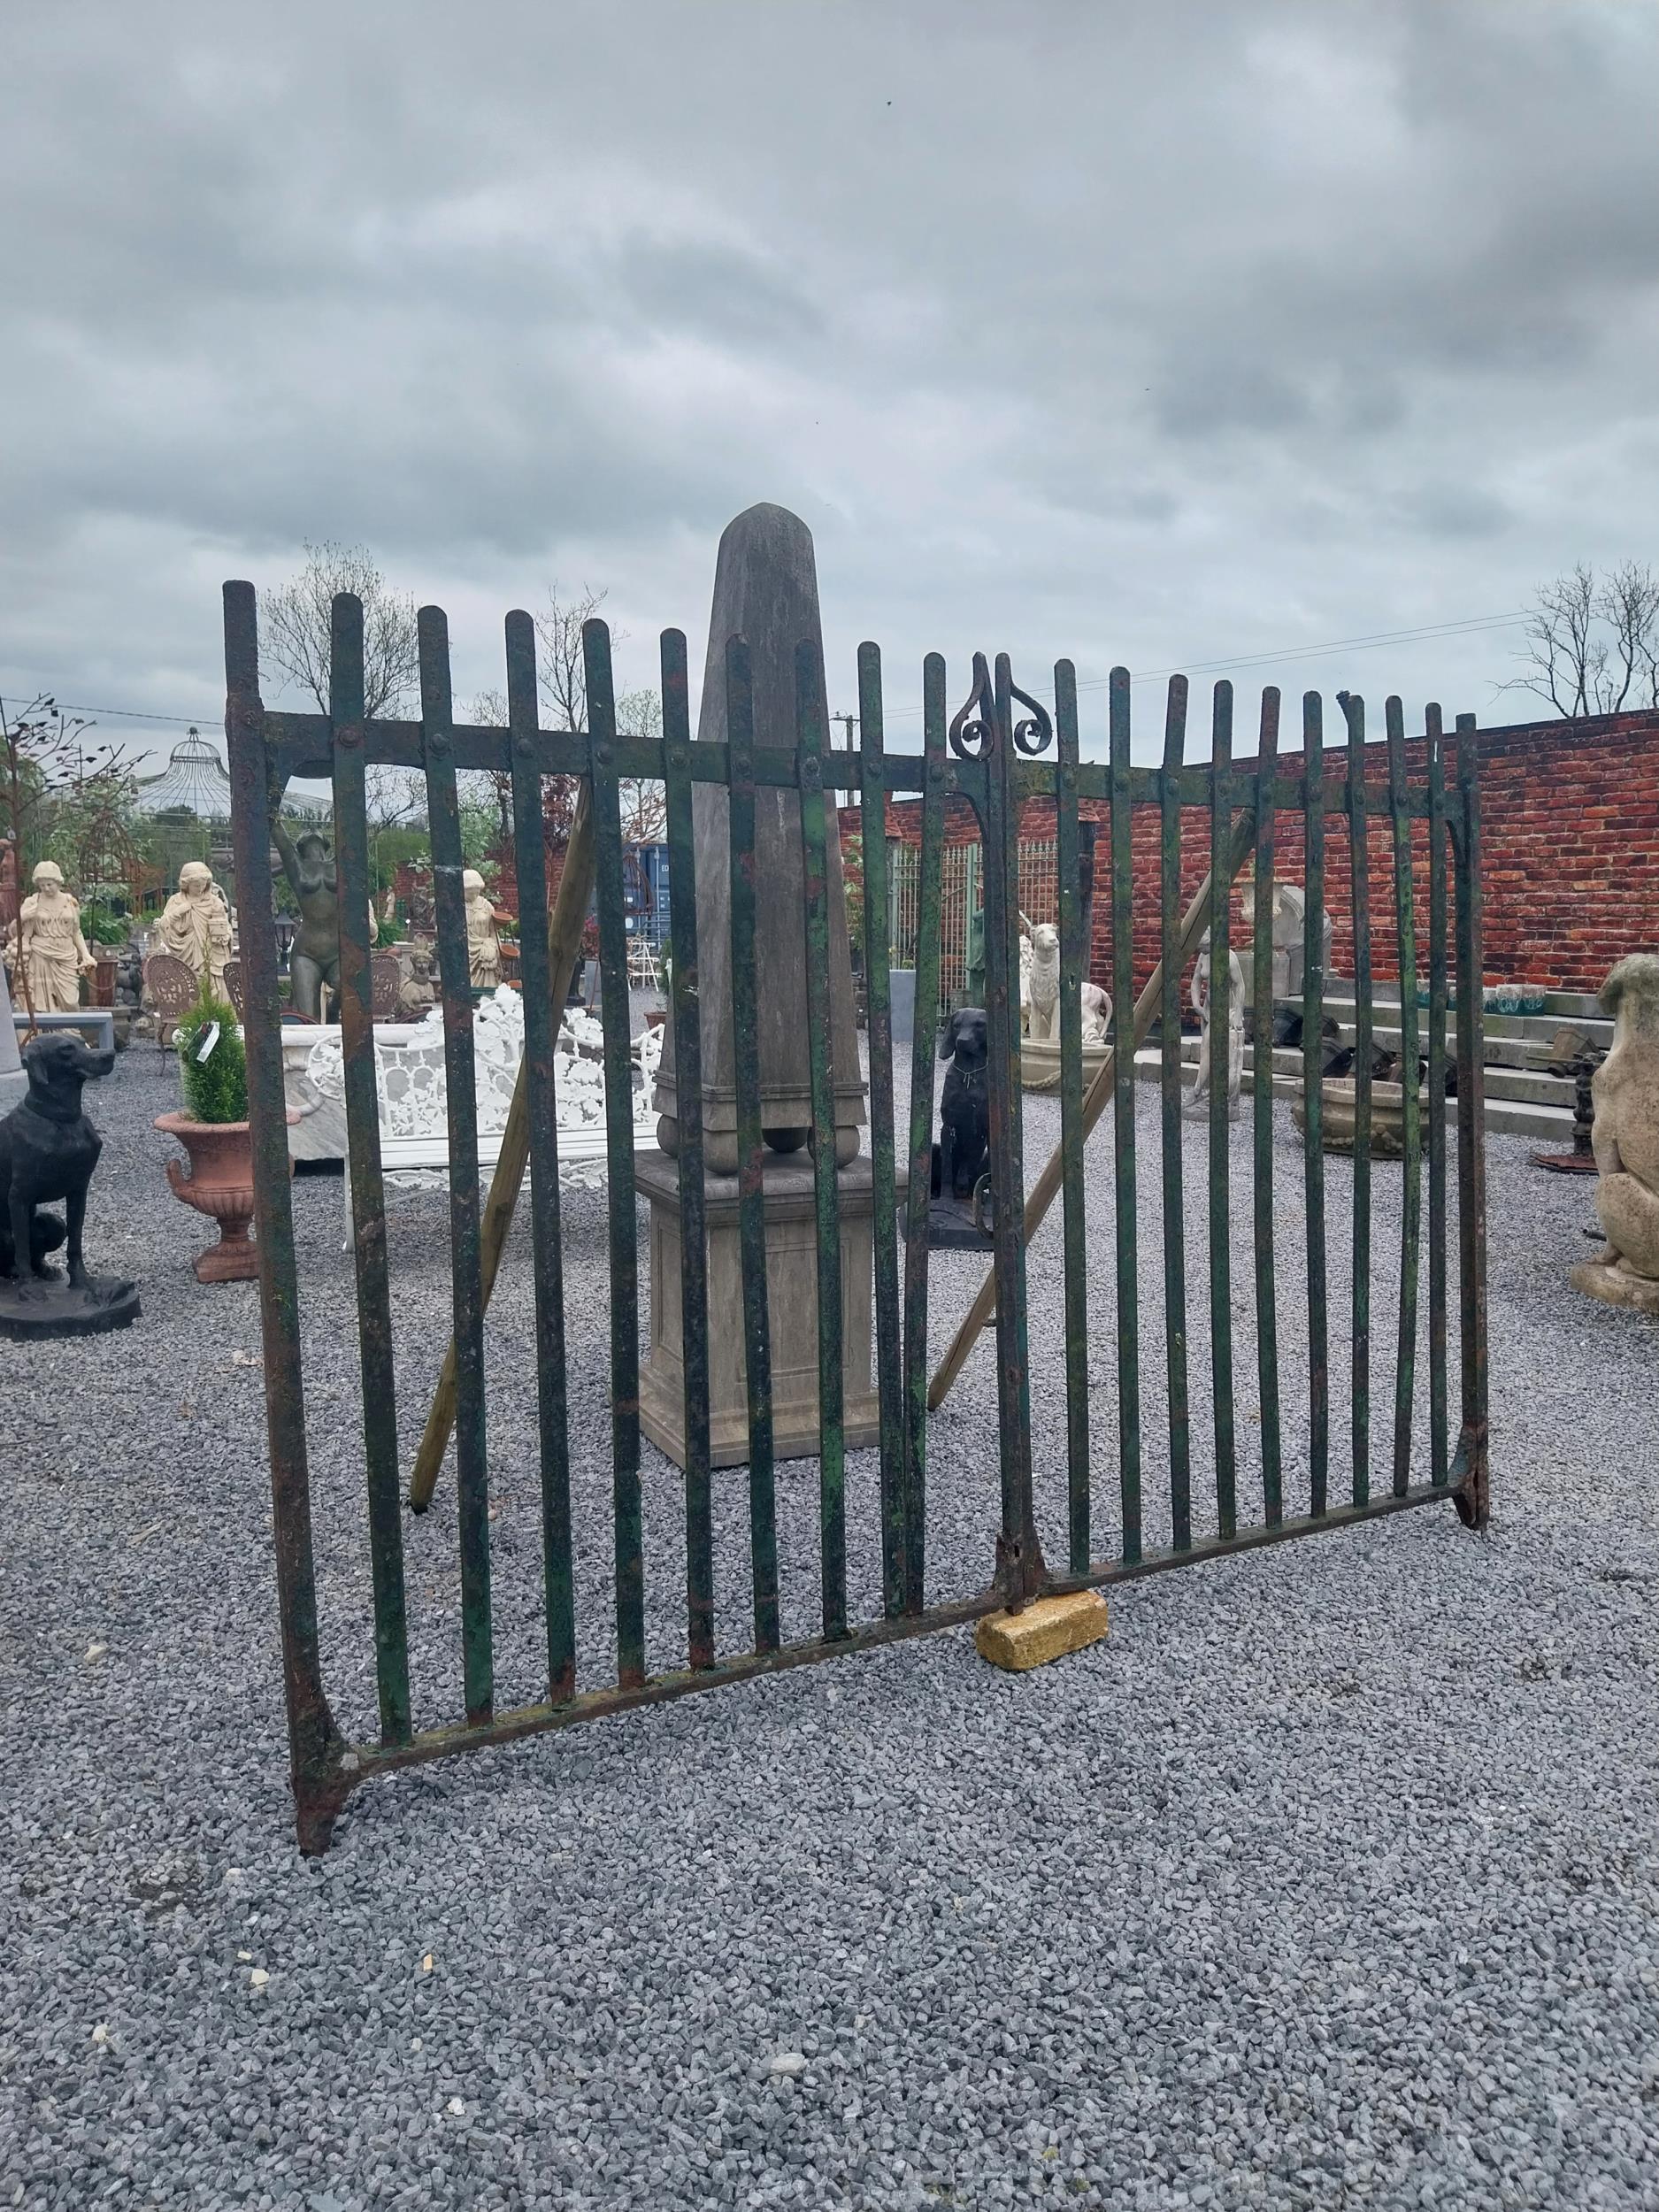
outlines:
[{"label": "bottom horizontal rail running along both leaves of the iron gate", "polygon": [[[1088,1568],[1084,1575],[1053,1575],[1051,1593],[1099,1590],[1115,1582],[1135,1582],[1141,1575],[1157,1575],[1172,1566],[1197,1566],[1206,1559],[1228,1559],[1234,1553],[1261,1551],[1265,1544],[1287,1544],[1294,1537],[1318,1535],[1323,1528],[1349,1528],[1356,1522],[1380,1520],[1385,1513],[1402,1513],[1409,1506],[1444,1504],[1462,1493],[1467,1478],[1462,1458],[1453,1469],[1451,1484],[1422,1482],[1405,1495],[1383,1493],[1367,1506],[1332,1506],[1329,1513],[1305,1520],[1283,1520],[1272,1526],[1241,1528],[1232,1537],[1197,1537],[1186,1551],[1146,1551],[1139,1559],[1110,1559]],[[741,1652],[717,1661],[712,1668],[684,1668],[672,1674],[650,1674],[646,1681],[617,1686],[611,1690],[582,1690],[564,1705],[518,1705],[498,1712],[482,1725],[456,1723],[453,1728],[427,1728],[409,1743],[378,1745],[354,1743],[341,1761],[341,1781],[356,1787],[376,1774],[394,1774],[400,1767],[425,1765],[431,1759],[449,1759],[456,1752],[482,1750],[493,1743],[513,1743],[522,1736],[549,1734],[557,1728],[575,1728],[584,1721],[604,1721],[639,1705],[661,1705],[675,1697],[690,1697],[697,1690],[714,1690],[728,1683],[754,1681],[761,1674],[781,1674],[785,1668],[812,1666],[818,1659],[841,1659],[849,1652],[883,1650],[909,1637],[933,1635],[938,1628],[962,1628],[984,1619],[1002,1606],[1000,1590],[980,1590],[973,1597],[949,1599],[929,1606],[927,1613],[902,1613],[887,1619],[860,1621],[841,1637],[818,1637],[810,1644],[783,1644],[770,1652]]]}]

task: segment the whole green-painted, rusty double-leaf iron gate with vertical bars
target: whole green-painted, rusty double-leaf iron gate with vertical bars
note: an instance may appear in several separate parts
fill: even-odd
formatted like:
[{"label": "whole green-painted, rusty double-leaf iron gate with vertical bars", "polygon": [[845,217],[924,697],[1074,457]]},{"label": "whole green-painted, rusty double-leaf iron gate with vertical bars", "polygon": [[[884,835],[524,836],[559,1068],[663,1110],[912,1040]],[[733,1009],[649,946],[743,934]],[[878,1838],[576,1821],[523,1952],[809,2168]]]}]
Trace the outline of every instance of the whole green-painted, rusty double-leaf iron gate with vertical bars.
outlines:
[{"label": "whole green-painted, rusty double-leaf iron gate with vertical bars", "polygon": [[[611,641],[604,624],[584,633],[588,730],[538,728],[535,639],[529,615],[507,617],[509,728],[453,721],[445,617],[420,615],[420,721],[363,719],[363,613],[356,599],[334,602],[332,710],[265,712],[259,697],[254,591],[226,586],[226,677],[230,770],[234,787],[237,878],[241,885],[241,958],[246,978],[248,1088],[254,1141],[257,1232],[261,1248],[261,1318],[274,1500],[276,1584],[299,1807],[305,1851],[327,1847],[334,1818],[356,1783],[449,1752],[478,1750],[540,1730],[566,1728],[630,1705],[741,1681],[750,1674],[867,1650],[898,1637],[971,1621],[1002,1606],[1024,1606],[1048,1590],[1102,1586],[1155,1568],[1243,1551],[1416,1504],[1451,1500],[1467,1526],[1486,1517],[1486,1316],[1482,1212],[1482,1037],[1480,1037],[1480,807],[1473,717],[1458,721],[1455,748],[1442,741],[1438,710],[1427,714],[1420,774],[1407,772],[1400,706],[1387,703],[1387,781],[1367,779],[1365,710],[1340,697],[1343,745],[1327,774],[1318,695],[1303,701],[1301,761],[1279,763],[1279,695],[1261,703],[1259,750],[1232,765],[1232,688],[1214,690],[1212,743],[1206,765],[1188,768],[1186,681],[1168,688],[1161,768],[1130,765],[1130,684],[1113,670],[1108,686],[1108,759],[1082,763],[1077,684],[1068,661],[1055,668],[1053,717],[1020,692],[1006,657],[995,670],[975,657],[969,701],[949,714],[947,672],[938,655],[922,668],[922,750],[889,754],[883,743],[883,675],[874,646],[858,653],[858,750],[827,745],[827,712],[816,659],[796,659],[796,748],[757,743],[741,639],[728,646],[726,741],[690,741],[686,639],[661,639],[661,741],[619,737],[615,728]],[[376,1119],[374,1020],[369,993],[369,847],[365,770],[394,765],[425,776],[431,823],[438,953],[445,1004],[449,1102],[451,1358],[456,1511],[460,1564],[460,1712],[447,1725],[416,1725],[409,1688],[409,1590],[405,1582],[405,1471],[400,1467],[392,1267]],[[460,887],[458,772],[493,770],[513,799],[520,887],[524,1077],[522,1144],[511,1141],[489,1208],[480,1206],[478,1128],[473,1106],[473,1035],[467,936]],[[336,865],[341,887],[341,1024],[356,1228],[356,1316],[363,1400],[363,1484],[374,1582],[374,1681],[378,1732],[347,1741],[323,1681],[319,1577],[312,1542],[312,1480],[301,1376],[301,1298],[283,1110],[276,938],[270,900],[270,807],[290,776],[327,776],[334,787]],[[606,1641],[615,1666],[599,1686],[577,1686],[577,1619],[571,1513],[571,1416],[566,1312],[560,1232],[560,1130],[555,1121],[560,975],[573,951],[568,914],[549,914],[542,785],[549,776],[586,779],[577,836],[591,841],[599,914],[604,1000],[608,1294],[611,1294],[611,1553],[613,1606]],[[626,980],[624,843],[619,787],[657,781],[666,790],[672,918],[670,936],[675,1048],[679,1077],[679,1192],[684,1208],[684,1365],[688,1378],[684,1473],[684,1666],[648,1670],[646,1542],[639,1440],[639,1256],[633,1175],[630,1011]],[[741,1329],[748,1374],[748,1473],[721,1480],[748,1486],[750,1617],[717,1617],[714,1478],[708,1444],[708,1281],[701,1239],[703,1172],[697,1018],[697,891],[692,854],[692,785],[723,785],[732,852],[732,991],[737,1026],[737,1110],[741,1190],[741,1314],[714,1325]],[[781,1559],[776,1469],[772,1455],[768,1287],[761,1221],[761,1097],[754,1055],[757,900],[748,860],[754,849],[754,796],[768,785],[799,787],[807,876],[807,975],[814,1106],[814,1201],[818,1287],[818,1635],[785,1641],[781,1632]],[[878,1531],[880,1613],[849,1617],[847,1601],[847,1451],[843,1427],[841,1239],[834,1172],[834,1093],[830,1068],[830,898],[827,834],[832,794],[849,792],[863,810],[865,975],[869,998],[869,1137],[874,1172],[874,1312],[880,1405]],[[967,799],[982,827],[987,909],[987,1018],[991,1033],[991,1183],[998,1194],[991,1270],[949,1356],[929,1378],[927,1194],[933,1137],[936,1009],[940,1004],[940,860],[945,805]],[[916,1033],[909,1068],[907,1192],[900,1199],[894,1137],[894,1062],[887,956],[887,799],[918,799],[922,858],[918,891]],[[1055,807],[1057,905],[1062,962],[1062,1141],[1051,1166],[1024,1186],[1022,1097],[1018,1082],[1018,825],[1026,799]],[[1104,803],[1110,823],[1106,865],[1110,889],[1110,995],[1115,1042],[1106,1066],[1084,1091],[1079,982],[1086,975],[1077,872],[1079,803]],[[1135,995],[1133,973],[1133,823],[1137,810],[1157,816],[1161,854],[1159,964]],[[1203,821],[1210,876],[1206,891],[1181,905],[1181,845],[1192,816]],[[1294,1422],[1281,1402],[1281,1312],[1274,1248],[1272,1086],[1252,1097],[1252,1221],[1248,1270],[1254,1294],[1259,1475],[1252,1451],[1250,1495],[1241,1495],[1237,1396],[1232,1365],[1234,1250],[1230,1237],[1230,1148],[1225,1084],[1212,1084],[1208,1141],[1208,1312],[1210,1374],[1188,1374],[1188,1301],[1181,1159],[1179,991],[1183,969],[1208,925],[1214,1022],[1225,1035],[1230,887],[1245,860],[1254,867],[1256,927],[1248,949],[1254,973],[1250,1013],[1256,1068],[1272,1064],[1272,898],[1276,825],[1296,816],[1303,832],[1307,887],[1303,1075],[1307,1130],[1301,1148],[1305,1219],[1305,1396],[1298,1385]],[[1376,821],[1374,821],[1376,816]],[[1334,1436],[1327,1356],[1327,1206],[1321,1139],[1321,1015],[1325,907],[1325,825],[1347,847],[1347,898],[1354,956],[1354,1117],[1352,1166],[1352,1314],[1345,1376],[1347,1436]],[[1427,847],[1427,872],[1413,860]],[[575,841],[573,841],[575,845]],[[1400,978],[1400,1051],[1405,1066],[1427,1055],[1425,1115],[1418,1088],[1402,1093],[1405,1157],[1400,1172],[1398,1332],[1371,1345],[1371,856],[1391,854],[1394,960]],[[566,863],[568,869],[568,863]],[[1427,874],[1427,931],[1418,927]],[[564,887],[562,887],[564,891]],[[586,907],[586,898],[582,898]],[[577,914],[580,922],[580,914]],[[1427,949],[1425,949],[1427,938]],[[1427,973],[1427,1040],[1418,1033],[1420,978]],[[1455,1068],[1447,1068],[1447,1011],[1455,1006]],[[1130,1018],[1133,1009],[1133,1018]],[[1152,1024],[1161,1033],[1159,1144],[1164,1316],[1139,1310],[1137,1177],[1150,1159],[1135,1141],[1135,1053]],[[1447,1117],[1440,1102],[1455,1084],[1455,1183],[1449,1175]],[[1106,1106],[1113,1110],[1110,1175],[1115,1203],[1115,1285],[1088,1281],[1084,1137]],[[1427,1128],[1425,1128],[1427,1119]],[[1150,1150],[1150,1148],[1148,1148]],[[491,1511],[484,1429],[484,1310],[500,1259],[502,1201],[511,1210],[522,1161],[529,1159],[535,1285],[535,1409],[540,1444],[544,1697],[498,1703],[491,1619]],[[1422,1183],[1427,1166],[1427,1336],[1420,1323]],[[1347,1177],[1347,1170],[1345,1170]],[[511,1183],[511,1190],[507,1188]],[[1053,1197],[1062,1201],[1064,1248],[1064,1533],[1051,1531],[1044,1553],[1033,1493],[1031,1363],[1026,1345],[1026,1243]],[[1455,1232],[1451,1212],[1455,1206]],[[1449,1254],[1455,1237],[1458,1416],[1449,1378]],[[1088,1307],[1115,1310],[1117,1418],[1110,1438],[1091,1433]],[[995,1329],[1000,1531],[984,1586],[929,1601],[927,1442],[929,1407],[938,1405],[971,1354],[980,1325]],[[1157,1438],[1141,1422],[1141,1340],[1161,1334],[1161,1394],[1168,1418]],[[1427,1467],[1413,1464],[1418,1345],[1427,1340]],[[1374,1407],[1374,1352],[1391,1374],[1391,1402]],[[405,1385],[409,1378],[403,1378]],[[518,1378],[529,1387],[531,1378]],[[1212,1438],[1212,1467],[1194,1467],[1192,1398],[1208,1398],[1201,1433]],[[1374,1449],[1371,1427],[1383,1429]],[[1418,1422],[1420,1427],[1420,1422]],[[1305,1451],[1287,1453],[1292,1433]],[[1164,1433],[1168,1431],[1168,1433]],[[434,1413],[427,1444],[449,1433]],[[1144,1540],[1144,1458],[1168,1447],[1168,1542]],[[1287,1458],[1294,1464],[1287,1464]],[[1115,1464],[1110,1464],[1115,1462]],[[1194,1473],[1206,1480],[1197,1484]],[[1374,1486],[1376,1473],[1376,1486]],[[431,1495],[434,1464],[416,1502]],[[679,1486],[679,1478],[675,1478]],[[1150,1495],[1150,1493],[1148,1493]],[[1110,1509],[1102,1513],[1102,1502]],[[1294,1511],[1292,1511],[1294,1504]],[[1305,1504],[1305,1511],[1303,1511]],[[1057,1520],[1057,1515],[1051,1515]],[[1097,1524],[1115,1531],[1097,1542]],[[1164,1498],[1157,1500],[1157,1533]],[[810,1562],[783,1559],[785,1568]],[[588,1624],[593,1626],[593,1624]]]}]

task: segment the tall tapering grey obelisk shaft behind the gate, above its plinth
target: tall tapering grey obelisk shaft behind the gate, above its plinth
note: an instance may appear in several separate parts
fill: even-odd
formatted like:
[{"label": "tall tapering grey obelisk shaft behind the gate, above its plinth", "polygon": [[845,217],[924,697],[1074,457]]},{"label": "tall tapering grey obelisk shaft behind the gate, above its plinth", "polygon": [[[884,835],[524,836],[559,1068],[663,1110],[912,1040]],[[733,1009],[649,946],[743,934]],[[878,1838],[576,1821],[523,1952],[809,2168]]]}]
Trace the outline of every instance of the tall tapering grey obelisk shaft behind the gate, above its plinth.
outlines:
[{"label": "tall tapering grey obelisk shaft behind the gate, above its plinth", "polygon": [[[726,641],[750,648],[757,750],[794,752],[794,653],[812,639],[823,670],[823,622],[812,531],[783,507],[750,507],[726,524],[714,562],[714,606],[708,624],[699,743],[726,743]],[[723,783],[692,787],[697,852],[697,953],[703,1046],[706,1166],[737,1172],[737,1082],[732,1055],[732,896],[728,794]],[[812,1126],[807,1066],[805,872],[801,801],[761,787],[754,796],[754,885],[759,900],[759,1071],[761,1121],[768,1144],[796,1150]],[[836,1159],[858,1150],[865,1086],[858,1068],[847,898],[841,838],[830,807],[830,1075],[836,1108]],[[664,1150],[677,1148],[679,1093],[672,1026],[657,1075]]]}]

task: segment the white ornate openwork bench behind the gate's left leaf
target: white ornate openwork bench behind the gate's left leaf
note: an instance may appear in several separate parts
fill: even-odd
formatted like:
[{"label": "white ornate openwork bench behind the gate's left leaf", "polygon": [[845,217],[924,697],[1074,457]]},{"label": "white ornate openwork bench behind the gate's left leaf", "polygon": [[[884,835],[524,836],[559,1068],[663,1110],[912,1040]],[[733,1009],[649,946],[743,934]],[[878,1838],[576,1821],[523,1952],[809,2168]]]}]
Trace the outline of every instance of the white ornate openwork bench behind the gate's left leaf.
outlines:
[{"label": "white ornate openwork bench behind the gate's left leaf", "polygon": [[[564,1009],[560,1055],[553,1075],[560,1130],[560,1179],[604,1175],[606,1091],[599,1060],[604,1031],[577,1006]],[[524,1002],[518,991],[495,991],[473,1018],[473,1068],[478,1086],[478,1168],[484,1188],[502,1152],[507,1115],[524,1060]],[[646,1029],[633,1046],[633,1141],[635,1150],[657,1146],[657,1062],[661,1029]],[[380,1106],[380,1170],[392,1188],[434,1188],[449,1177],[449,1104],[445,1086],[442,1006],[422,1022],[376,1029],[376,1095]],[[330,1029],[310,1046],[305,1082],[341,1115],[345,1110],[345,1062],[341,1031]],[[352,1164],[345,1161],[345,1245],[352,1245]]]}]

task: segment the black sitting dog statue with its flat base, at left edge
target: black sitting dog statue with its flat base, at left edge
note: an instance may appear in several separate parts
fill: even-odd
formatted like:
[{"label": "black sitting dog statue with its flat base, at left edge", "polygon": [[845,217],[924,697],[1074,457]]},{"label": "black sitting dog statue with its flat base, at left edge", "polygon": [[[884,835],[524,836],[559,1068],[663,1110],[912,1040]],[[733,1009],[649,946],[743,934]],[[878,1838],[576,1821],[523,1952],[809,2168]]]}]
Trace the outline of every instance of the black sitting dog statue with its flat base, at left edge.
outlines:
[{"label": "black sitting dog statue with its flat base, at left edge", "polygon": [[[80,1106],[82,1086],[108,1075],[115,1053],[93,1053],[55,1031],[22,1048],[29,1095],[0,1121],[0,1336],[88,1336],[137,1318],[133,1283],[86,1274],[86,1186],[104,1139]],[[42,1214],[64,1201],[66,1219]],[[69,1283],[46,1254],[69,1245]]]}]

